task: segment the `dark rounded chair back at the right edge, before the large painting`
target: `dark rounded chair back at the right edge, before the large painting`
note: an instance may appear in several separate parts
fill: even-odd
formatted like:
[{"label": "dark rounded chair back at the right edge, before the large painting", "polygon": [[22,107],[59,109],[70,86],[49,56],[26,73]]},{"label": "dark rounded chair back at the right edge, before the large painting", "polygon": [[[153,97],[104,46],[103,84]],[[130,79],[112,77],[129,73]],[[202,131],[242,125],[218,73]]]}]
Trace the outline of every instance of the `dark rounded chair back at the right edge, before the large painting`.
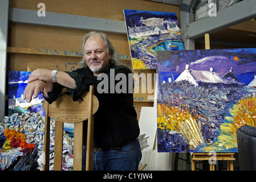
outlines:
[{"label": "dark rounded chair back at the right edge, before the large painting", "polygon": [[237,129],[237,147],[241,171],[256,171],[256,127],[243,125]]}]

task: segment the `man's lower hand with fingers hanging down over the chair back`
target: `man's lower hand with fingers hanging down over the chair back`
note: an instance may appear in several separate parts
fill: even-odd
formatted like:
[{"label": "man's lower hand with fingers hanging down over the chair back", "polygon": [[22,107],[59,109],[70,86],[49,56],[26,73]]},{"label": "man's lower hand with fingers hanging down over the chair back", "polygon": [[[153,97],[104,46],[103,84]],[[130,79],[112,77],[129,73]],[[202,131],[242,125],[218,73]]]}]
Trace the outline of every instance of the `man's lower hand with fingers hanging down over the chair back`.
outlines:
[{"label": "man's lower hand with fingers hanging down over the chair back", "polygon": [[44,97],[48,97],[46,82],[41,80],[32,81],[27,84],[24,90],[23,98],[27,102],[31,102],[33,94],[34,94],[33,98],[36,98],[40,91],[43,92]]}]

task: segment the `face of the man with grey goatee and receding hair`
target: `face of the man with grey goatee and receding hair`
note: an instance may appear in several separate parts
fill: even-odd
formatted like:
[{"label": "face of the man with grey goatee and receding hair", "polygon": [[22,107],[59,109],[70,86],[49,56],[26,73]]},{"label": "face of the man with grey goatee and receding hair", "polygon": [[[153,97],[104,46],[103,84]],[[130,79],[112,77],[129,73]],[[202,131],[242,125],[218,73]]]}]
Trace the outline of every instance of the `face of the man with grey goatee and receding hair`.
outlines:
[{"label": "face of the man with grey goatee and receding hair", "polygon": [[104,40],[99,35],[92,35],[84,44],[84,58],[88,68],[99,75],[107,68],[111,52],[108,53]]}]

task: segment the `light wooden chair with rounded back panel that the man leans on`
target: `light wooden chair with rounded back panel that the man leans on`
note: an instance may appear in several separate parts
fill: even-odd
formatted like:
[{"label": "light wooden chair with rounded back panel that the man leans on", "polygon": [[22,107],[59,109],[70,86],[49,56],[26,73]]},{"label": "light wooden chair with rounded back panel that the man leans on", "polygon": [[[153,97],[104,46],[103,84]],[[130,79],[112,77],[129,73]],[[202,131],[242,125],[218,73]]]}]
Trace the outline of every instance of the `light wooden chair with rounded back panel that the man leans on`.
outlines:
[{"label": "light wooden chair with rounded back panel that the man leans on", "polygon": [[94,114],[99,108],[99,101],[96,96],[94,96],[94,86],[90,86],[90,92],[85,92],[81,97],[83,100],[74,102],[71,96],[64,94],[56,101],[52,102],[52,104],[48,104],[45,100],[43,101],[43,109],[46,113],[44,125],[43,171],[49,171],[50,118],[55,119],[54,171],[62,170],[63,123],[74,123],[73,170],[82,170],[83,121],[86,119],[88,119],[86,170],[93,170]]}]

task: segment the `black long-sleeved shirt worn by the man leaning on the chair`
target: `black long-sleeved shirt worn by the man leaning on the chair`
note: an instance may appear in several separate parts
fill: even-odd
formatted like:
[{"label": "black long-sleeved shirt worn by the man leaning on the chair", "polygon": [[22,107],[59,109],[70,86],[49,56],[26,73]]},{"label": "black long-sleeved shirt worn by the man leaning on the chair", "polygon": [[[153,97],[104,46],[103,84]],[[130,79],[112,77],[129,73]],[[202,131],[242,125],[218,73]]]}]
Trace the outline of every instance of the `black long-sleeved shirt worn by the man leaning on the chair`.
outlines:
[{"label": "black long-sleeved shirt worn by the man leaning on the chair", "polygon": [[[117,74],[122,73],[127,79],[123,80],[121,78],[118,80],[116,78],[116,80],[113,80],[113,72],[115,72],[115,78]],[[74,78],[76,82],[75,89],[67,88],[74,101],[79,100],[80,94],[89,91],[90,85],[95,86],[94,94],[99,100],[99,109],[94,115],[94,147],[119,147],[139,136],[140,129],[137,113],[133,106],[133,92],[129,88],[131,82],[129,84],[128,81],[128,78],[131,78],[132,75],[131,69],[124,65],[112,65],[110,63],[104,71],[105,75],[108,76],[108,91],[105,90],[105,93],[101,93],[105,85],[102,86],[103,82],[97,80],[97,77],[93,75],[89,68],[78,68],[66,73]],[[100,82],[101,84],[99,84]],[[116,93],[117,89],[113,89],[113,83],[117,89],[126,92]],[[124,83],[127,83],[127,85]],[[97,88],[98,84],[101,85],[99,88]],[[49,97],[45,100],[51,104],[58,98],[62,89],[62,85],[55,83],[54,92],[48,93]],[[115,93],[113,93],[113,90],[115,90]],[[87,141],[87,122],[84,123],[83,140],[85,145]]]}]

